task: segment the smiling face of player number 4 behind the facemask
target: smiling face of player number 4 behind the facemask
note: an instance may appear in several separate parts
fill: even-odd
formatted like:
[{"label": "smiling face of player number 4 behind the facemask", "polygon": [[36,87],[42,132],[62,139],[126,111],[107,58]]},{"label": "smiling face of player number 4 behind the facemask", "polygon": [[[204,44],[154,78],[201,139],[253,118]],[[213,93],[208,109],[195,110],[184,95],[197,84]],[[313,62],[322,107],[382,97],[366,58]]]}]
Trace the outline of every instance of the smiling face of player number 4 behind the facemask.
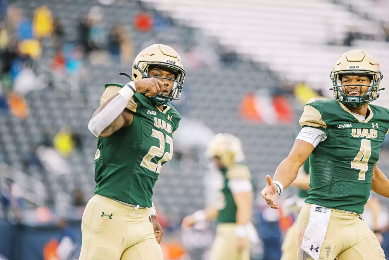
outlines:
[{"label": "smiling face of player number 4 behind the facemask", "polygon": [[[343,92],[347,96],[363,96],[369,90],[370,79],[363,74],[345,74],[341,80]],[[350,85],[350,86],[347,86]],[[362,86],[361,86],[362,85]],[[365,86],[363,86],[365,85]],[[362,91],[362,93],[360,93]]]}]

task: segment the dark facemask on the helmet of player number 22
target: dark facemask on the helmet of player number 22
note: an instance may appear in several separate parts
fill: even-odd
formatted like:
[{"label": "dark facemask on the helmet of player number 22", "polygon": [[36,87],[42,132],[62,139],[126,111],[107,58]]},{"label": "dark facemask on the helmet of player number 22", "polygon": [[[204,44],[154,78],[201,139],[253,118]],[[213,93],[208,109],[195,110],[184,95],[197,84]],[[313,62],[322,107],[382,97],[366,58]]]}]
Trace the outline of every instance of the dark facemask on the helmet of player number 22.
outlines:
[{"label": "dark facemask on the helmet of player number 22", "polygon": [[[164,77],[150,77],[149,69],[158,67],[161,69],[166,69],[175,74],[175,79],[164,78]],[[142,74],[142,78],[157,78],[161,81],[169,80],[173,81],[173,88],[170,91],[169,96],[163,94],[157,94],[155,97],[150,97],[151,102],[155,106],[163,106],[169,101],[178,100],[181,96],[182,85],[185,79],[185,71],[177,65],[174,65],[170,62],[150,62],[145,60],[140,60],[137,64],[134,64],[134,69],[139,71]]]}]

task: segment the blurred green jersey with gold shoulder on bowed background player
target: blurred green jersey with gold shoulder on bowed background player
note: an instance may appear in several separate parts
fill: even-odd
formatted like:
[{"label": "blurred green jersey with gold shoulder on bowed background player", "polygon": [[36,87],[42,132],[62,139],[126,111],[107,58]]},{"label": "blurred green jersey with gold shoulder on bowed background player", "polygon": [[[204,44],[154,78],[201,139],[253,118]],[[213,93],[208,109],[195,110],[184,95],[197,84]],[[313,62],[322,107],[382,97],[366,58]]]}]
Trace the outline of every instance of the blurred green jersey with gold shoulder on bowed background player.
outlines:
[{"label": "blurred green jersey with gold shoulder on bowed background player", "polygon": [[232,179],[251,180],[250,170],[245,165],[236,164],[230,168],[224,168],[221,170],[221,174],[223,176],[223,187],[219,193],[217,223],[236,223],[237,205],[235,204],[231,189],[228,187],[228,182]]}]

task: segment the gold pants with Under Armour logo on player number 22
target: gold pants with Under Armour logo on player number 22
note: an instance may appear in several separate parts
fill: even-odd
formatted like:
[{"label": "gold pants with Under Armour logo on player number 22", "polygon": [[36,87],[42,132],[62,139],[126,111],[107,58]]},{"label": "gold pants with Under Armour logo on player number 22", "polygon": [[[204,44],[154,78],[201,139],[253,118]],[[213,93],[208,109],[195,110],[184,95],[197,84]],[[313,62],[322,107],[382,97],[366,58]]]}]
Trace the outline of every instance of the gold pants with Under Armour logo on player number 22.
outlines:
[{"label": "gold pants with Under Armour logo on player number 22", "polygon": [[135,209],[95,195],[81,223],[79,260],[163,260],[148,209]]}]

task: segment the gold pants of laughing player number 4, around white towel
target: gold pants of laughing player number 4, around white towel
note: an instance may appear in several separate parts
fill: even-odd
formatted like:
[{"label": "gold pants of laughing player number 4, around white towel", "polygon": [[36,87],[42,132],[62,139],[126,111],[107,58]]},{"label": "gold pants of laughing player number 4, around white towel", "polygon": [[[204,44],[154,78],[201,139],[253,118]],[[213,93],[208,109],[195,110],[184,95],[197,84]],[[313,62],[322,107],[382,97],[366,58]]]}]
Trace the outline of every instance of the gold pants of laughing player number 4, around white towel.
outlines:
[{"label": "gold pants of laughing player number 4, around white towel", "polygon": [[[305,228],[309,223],[311,204],[305,204],[297,221],[297,260],[312,260],[301,247]],[[319,260],[385,260],[384,250],[356,213],[332,209]]]}]

